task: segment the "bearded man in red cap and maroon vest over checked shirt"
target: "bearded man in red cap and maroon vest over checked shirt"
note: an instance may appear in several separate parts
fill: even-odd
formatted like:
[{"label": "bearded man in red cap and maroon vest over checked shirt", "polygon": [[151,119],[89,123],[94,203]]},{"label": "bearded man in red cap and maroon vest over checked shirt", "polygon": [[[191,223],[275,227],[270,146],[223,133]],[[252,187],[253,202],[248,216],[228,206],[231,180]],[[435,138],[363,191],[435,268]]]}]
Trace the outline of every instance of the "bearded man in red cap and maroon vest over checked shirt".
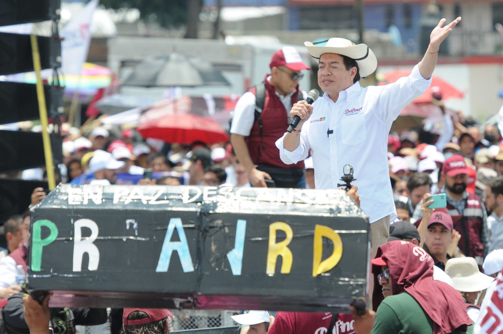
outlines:
[{"label": "bearded man in red cap and maroon vest over checked shirt", "polygon": [[[446,159],[441,178],[445,180],[445,186],[439,193],[446,194],[446,207],[436,209],[433,216],[438,212],[445,212],[452,217],[453,229],[460,234],[459,249],[465,256],[475,258],[477,264],[481,266],[488,243],[487,214],[478,196],[466,191],[468,168],[464,158],[456,154]],[[426,205],[433,203],[430,197],[430,194],[425,194],[423,202],[429,200]],[[425,215],[424,207],[425,205],[422,215]],[[422,220],[425,218],[429,217],[423,217]]]}]

